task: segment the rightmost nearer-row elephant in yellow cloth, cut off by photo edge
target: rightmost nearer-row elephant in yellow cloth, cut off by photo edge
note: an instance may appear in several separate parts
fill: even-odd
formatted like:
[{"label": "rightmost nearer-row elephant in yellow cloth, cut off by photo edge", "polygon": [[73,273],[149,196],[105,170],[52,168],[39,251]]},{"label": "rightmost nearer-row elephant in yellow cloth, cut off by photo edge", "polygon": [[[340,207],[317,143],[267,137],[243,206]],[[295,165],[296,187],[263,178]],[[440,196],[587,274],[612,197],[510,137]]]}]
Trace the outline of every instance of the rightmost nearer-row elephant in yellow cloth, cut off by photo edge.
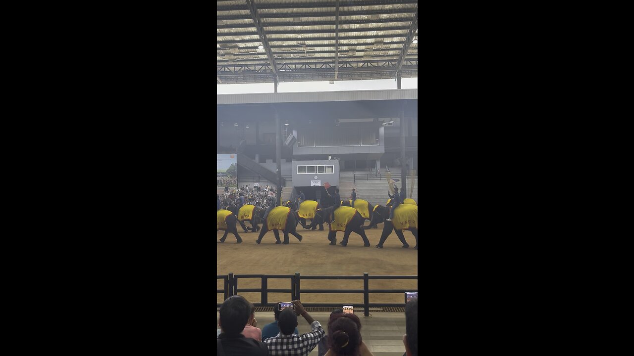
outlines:
[{"label": "rightmost nearer-row elephant in yellow cloth, cut off by photo edge", "polygon": [[[385,221],[385,219],[390,216],[391,208],[391,205],[389,207],[377,205],[373,208],[370,226],[372,226],[372,224],[384,223],[383,232],[381,233],[381,239],[378,241],[377,248],[383,248],[385,240],[392,234],[392,231],[396,231],[396,236],[398,236],[399,241],[403,243],[403,248],[410,247],[403,236],[403,230],[409,230],[411,234],[414,235],[414,238],[416,238],[414,250],[418,250],[418,206],[409,203],[401,204],[394,212],[394,219],[392,219],[392,221]],[[370,229],[370,227],[364,227],[364,229]]]}]

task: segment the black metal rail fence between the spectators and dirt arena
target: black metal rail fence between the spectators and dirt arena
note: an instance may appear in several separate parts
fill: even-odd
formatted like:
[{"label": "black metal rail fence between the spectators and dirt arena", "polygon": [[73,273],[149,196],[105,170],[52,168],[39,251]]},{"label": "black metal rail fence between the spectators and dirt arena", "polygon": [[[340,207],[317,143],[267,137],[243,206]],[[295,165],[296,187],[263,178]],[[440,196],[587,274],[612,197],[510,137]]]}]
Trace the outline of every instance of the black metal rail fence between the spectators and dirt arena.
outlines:
[{"label": "black metal rail fence between the spectators and dirt arena", "polygon": [[[240,278],[260,278],[261,288],[238,288]],[[363,307],[363,315],[369,316],[370,307],[404,307],[405,303],[370,303],[370,293],[405,293],[418,292],[416,289],[370,289],[371,279],[414,279],[418,281],[418,276],[370,276],[364,273],[363,276],[301,276],[299,273],[293,274],[233,274],[228,276],[216,276],[216,279],[224,279],[224,290],[216,289],[217,294],[224,293],[224,299],[238,295],[238,293],[260,293],[261,302],[254,303],[256,307],[273,307],[274,303],[268,302],[268,293],[290,293],[291,300],[299,300],[302,293],[355,293],[363,294],[363,303],[349,303],[353,307]],[[290,289],[269,289],[269,279],[290,279]],[[301,280],[320,279],[320,280],[342,280],[357,279],[363,280],[363,289],[301,289]],[[342,303],[302,303],[304,307],[341,307]],[[348,305],[348,303],[346,303]],[[216,307],[220,307],[221,303],[216,303]]]}]

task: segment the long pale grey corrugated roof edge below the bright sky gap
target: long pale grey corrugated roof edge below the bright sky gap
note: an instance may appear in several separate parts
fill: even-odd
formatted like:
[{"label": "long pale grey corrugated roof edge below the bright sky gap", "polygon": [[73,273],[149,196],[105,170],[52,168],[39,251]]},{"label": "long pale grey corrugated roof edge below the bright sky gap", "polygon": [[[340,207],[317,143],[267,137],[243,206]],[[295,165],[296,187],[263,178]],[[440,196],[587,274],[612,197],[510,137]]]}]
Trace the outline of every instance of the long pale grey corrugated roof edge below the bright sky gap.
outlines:
[{"label": "long pale grey corrugated roof edge below the bright sky gap", "polygon": [[216,105],[418,99],[418,89],[217,94]]}]

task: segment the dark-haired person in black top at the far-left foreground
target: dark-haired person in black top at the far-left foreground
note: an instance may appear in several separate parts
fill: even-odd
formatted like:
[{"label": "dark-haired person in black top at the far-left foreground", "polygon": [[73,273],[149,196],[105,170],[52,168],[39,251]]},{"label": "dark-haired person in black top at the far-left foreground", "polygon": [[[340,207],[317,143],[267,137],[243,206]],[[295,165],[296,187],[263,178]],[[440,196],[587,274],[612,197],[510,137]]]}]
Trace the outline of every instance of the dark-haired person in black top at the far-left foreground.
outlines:
[{"label": "dark-haired person in black top at the far-left foreground", "polygon": [[266,356],[269,354],[262,341],[246,338],[242,333],[249,321],[251,306],[240,295],[230,296],[220,307],[221,334],[216,340],[217,355]]}]

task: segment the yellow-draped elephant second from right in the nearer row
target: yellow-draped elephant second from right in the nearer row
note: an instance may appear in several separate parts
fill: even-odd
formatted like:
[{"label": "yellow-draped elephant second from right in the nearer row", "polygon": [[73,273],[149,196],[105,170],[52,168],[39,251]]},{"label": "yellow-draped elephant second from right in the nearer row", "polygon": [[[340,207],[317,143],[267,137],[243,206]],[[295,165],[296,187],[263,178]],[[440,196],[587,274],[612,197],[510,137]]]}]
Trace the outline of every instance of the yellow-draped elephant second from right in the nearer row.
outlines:
[{"label": "yellow-draped elephant second from right in the nearer row", "polygon": [[[370,246],[370,240],[368,240],[368,236],[365,235],[365,231],[363,230],[363,222],[365,219],[363,219],[356,209],[352,207],[340,207],[335,210],[335,207],[328,207],[323,210],[318,210],[315,213],[316,217],[313,220],[313,224],[320,224],[325,221],[330,227],[330,232],[328,232],[330,245],[337,245],[337,231],[344,231],[344,239],[339,245],[347,246],[350,233],[356,232],[356,234],[363,239],[363,246]],[[330,224],[332,215],[335,217],[334,224]]]}]

